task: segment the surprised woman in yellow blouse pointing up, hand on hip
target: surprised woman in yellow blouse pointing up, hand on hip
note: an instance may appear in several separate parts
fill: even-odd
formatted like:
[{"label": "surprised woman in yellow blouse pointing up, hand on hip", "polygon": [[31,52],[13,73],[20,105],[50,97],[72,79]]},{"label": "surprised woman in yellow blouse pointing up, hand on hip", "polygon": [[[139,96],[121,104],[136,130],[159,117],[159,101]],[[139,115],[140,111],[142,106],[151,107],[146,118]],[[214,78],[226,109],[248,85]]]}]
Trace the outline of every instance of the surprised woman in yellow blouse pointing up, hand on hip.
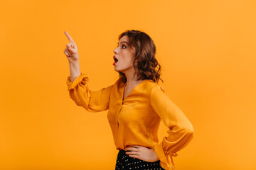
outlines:
[{"label": "surprised woman in yellow blouse pointing up, hand on hip", "polygon": [[[70,40],[64,53],[70,64],[70,98],[87,111],[106,111],[114,144],[119,150],[116,169],[175,169],[172,157],[193,138],[186,115],[159,86],[161,67],[153,40],[139,30],[119,35],[114,49],[114,70],[119,79],[111,86],[90,91],[88,77],[80,73],[78,47]],[[160,120],[169,136],[159,142]]]}]

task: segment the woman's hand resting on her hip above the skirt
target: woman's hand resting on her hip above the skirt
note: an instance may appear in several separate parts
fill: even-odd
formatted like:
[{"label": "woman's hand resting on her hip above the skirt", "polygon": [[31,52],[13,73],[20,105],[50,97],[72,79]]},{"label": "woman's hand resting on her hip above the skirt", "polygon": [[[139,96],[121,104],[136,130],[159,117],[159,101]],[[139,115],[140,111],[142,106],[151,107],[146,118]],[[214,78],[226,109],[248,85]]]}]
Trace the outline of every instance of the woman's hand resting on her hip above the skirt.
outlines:
[{"label": "woman's hand resting on her hip above the skirt", "polygon": [[131,145],[127,146],[125,151],[127,151],[125,153],[128,154],[129,157],[141,159],[145,162],[156,162],[159,160],[159,157],[157,156],[156,152],[154,152],[154,149],[150,149],[148,147]]}]

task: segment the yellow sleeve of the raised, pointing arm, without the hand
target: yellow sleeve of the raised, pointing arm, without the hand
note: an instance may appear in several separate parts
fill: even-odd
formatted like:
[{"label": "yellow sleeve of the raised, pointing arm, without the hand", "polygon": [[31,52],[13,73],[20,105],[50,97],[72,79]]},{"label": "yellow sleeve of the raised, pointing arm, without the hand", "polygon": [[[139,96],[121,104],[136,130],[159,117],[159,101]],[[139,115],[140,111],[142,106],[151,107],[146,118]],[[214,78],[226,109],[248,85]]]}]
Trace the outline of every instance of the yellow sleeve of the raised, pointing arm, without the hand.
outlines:
[{"label": "yellow sleeve of the raised, pointing arm, without the hand", "polygon": [[68,77],[67,85],[70,98],[72,98],[78,106],[82,106],[89,112],[106,111],[109,108],[110,93],[113,85],[98,91],[91,91],[87,84],[88,81],[87,74],[81,73],[73,82],[71,82],[70,77]]}]

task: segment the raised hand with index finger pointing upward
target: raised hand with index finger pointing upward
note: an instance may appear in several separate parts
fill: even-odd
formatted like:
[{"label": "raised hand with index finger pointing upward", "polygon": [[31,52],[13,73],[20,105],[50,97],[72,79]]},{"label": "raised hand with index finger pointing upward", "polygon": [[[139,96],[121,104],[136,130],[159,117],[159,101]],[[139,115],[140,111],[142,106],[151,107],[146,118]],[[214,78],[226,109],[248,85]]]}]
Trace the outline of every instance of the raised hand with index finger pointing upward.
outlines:
[{"label": "raised hand with index finger pointing upward", "polygon": [[71,36],[66,31],[64,31],[64,33],[70,41],[70,43],[66,45],[64,54],[67,56],[69,62],[78,61],[78,47],[75,44],[74,40],[71,38]]}]

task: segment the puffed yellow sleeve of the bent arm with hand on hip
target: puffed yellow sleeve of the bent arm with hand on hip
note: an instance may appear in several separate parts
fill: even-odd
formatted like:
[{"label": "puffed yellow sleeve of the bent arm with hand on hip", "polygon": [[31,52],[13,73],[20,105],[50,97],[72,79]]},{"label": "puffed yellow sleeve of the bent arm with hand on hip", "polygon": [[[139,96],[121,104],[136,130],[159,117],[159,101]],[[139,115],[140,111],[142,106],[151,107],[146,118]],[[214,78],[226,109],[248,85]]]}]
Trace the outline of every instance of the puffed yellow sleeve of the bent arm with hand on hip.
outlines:
[{"label": "puffed yellow sleeve of the bent arm with hand on hip", "polygon": [[164,125],[169,128],[168,136],[164,137],[162,142],[154,147],[154,150],[164,169],[175,169],[173,157],[176,157],[176,152],[192,140],[193,126],[159,84],[151,89],[150,102]]}]

